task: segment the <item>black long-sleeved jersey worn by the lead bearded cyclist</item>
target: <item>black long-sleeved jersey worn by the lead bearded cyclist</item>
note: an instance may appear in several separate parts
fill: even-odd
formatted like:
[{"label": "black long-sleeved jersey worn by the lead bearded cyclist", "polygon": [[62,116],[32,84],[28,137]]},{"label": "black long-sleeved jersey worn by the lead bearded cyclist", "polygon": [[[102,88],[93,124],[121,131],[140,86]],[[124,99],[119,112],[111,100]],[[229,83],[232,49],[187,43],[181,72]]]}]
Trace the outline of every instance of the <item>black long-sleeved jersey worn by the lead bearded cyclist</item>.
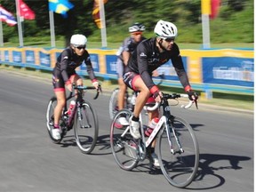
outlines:
[{"label": "black long-sleeved jersey worn by the lead bearded cyclist", "polygon": [[168,60],[172,60],[172,65],[183,87],[190,86],[178,45],[174,43],[171,51],[159,52],[156,46],[156,37],[149,38],[137,46],[134,52],[132,52],[132,57],[130,57],[124,73],[132,71],[140,74],[150,90],[155,85],[152,80],[152,72],[164,65]]}]

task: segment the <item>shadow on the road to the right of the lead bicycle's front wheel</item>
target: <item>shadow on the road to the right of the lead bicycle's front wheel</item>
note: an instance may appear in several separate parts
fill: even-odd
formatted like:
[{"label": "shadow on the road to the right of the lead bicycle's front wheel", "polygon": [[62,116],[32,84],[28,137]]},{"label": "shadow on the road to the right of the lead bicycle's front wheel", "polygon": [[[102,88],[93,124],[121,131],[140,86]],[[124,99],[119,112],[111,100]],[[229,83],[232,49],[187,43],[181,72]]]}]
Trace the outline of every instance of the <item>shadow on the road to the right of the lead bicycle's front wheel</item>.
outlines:
[{"label": "shadow on the road to the right of the lead bicycle's front wheel", "polygon": [[[243,167],[239,165],[240,162],[249,160],[251,160],[251,157],[249,156],[200,154],[196,178],[194,182],[188,186],[188,189],[202,190],[219,188],[226,182],[226,180],[223,176],[218,174],[218,171],[221,171],[221,174],[223,175],[223,170],[242,170]],[[239,174],[239,172],[237,174]],[[227,173],[225,175],[229,174]],[[239,176],[237,176],[237,178],[239,178]],[[210,183],[212,186],[209,186]],[[197,188],[198,186],[199,188]]]}]

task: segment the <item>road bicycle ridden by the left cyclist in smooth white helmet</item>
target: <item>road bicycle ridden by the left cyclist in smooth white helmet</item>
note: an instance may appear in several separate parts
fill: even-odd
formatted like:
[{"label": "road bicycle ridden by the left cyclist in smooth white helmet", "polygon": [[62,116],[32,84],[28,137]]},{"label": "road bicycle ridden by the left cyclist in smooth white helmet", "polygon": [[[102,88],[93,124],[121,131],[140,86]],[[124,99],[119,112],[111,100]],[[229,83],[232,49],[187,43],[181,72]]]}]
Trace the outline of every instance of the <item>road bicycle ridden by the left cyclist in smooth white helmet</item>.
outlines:
[{"label": "road bicycle ridden by the left cyclist in smooth white helmet", "polygon": [[[66,98],[67,102],[62,110],[60,116],[60,140],[55,140],[52,137],[52,129],[54,123],[54,108],[57,105],[57,98],[52,97],[48,102],[46,111],[46,124],[47,131],[51,140],[54,143],[60,143],[63,137],[67,134],[69,130],[74,127],[76,145],[85,154],[92,152],[96,145],[98,132],[99,132],[99,122],[98,116],[95,109],[92,108],[92,104],[88,100],[84,100],[84,93],[87,90],[95,90],[94,86],[80,86],[73,84],[73,92],[70,92],[69,96]],[[75,90],[77,91],[75,93]],[[94,100],[96,100],[101,91],[101,87],[96,92]],[[72,109],[71,114],[68,116],[67,113],[67,103],[70,102],[72,98],[76,98],[75,108]]]}]

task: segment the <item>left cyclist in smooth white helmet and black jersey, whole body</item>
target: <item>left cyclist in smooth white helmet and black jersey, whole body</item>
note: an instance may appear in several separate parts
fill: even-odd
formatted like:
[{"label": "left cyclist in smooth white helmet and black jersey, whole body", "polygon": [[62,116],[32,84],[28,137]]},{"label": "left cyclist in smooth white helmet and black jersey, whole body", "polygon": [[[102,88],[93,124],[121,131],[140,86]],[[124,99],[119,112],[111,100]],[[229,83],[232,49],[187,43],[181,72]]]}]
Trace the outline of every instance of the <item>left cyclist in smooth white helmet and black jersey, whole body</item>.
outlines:
[{"label": "left cyclist in smooth white helmet and black jersey, whole body", "polygon": [[93,72],[90,55],[87,50],[85,50],[86,43],[86,36],[80,34],[71,36],[70,46],[60,53],[55,68],[53,68],[52,71],[52,84],[57,98],[52,129],[52,137],[55,140],[60,140],[61,129],[59,121],[62,109],[66,103],[65,85],[70,92],[72,92],[72,84],[83,85],[83,79],[76,74],[76,67],[82,65],[82,62],[84,61],[87,73],[92,80],[92,84],[96,89],[98,89],[99,86]]}]

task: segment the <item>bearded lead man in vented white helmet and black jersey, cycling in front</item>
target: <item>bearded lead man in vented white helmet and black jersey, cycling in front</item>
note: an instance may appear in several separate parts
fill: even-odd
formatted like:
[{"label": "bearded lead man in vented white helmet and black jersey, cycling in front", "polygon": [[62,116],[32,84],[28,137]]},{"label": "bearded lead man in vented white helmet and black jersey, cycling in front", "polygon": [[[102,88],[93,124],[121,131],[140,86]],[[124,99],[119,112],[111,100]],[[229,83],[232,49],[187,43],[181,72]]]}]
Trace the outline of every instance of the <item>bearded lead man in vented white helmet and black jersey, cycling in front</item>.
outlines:
[{"label": "bearded lead man in vented white helmet and black jersey, cycling in front", "polygon": [[[196,101],[198,98],[188,82],[188,76],[180,56],[180,49],[174,43],[178,33],[176,26],[171,22],[159,20],[156,23],[154,32],[156,37],[141,42],[132,53],[127,67],[124,68],[124,83],[132,90],[140,92],[136,99],[133,115],[129,120],[130,132],[134,139],[140,139],[139,116],[148,98],[153,97],[156,102],[160,102],[163,97],[162,92],[152,80],[152,72],[164,65],[168,60],[172,60],[172,65],[180,78],[180,83],[183,85],[185,92],[188,93],[189,100]],[[158,115],[158,110],[148,111],[149,121],[154,117],[158,117]],[[155,143],[156,140],[151,145],[150,153],[154,165],[159,166],[155,153]]]}]

